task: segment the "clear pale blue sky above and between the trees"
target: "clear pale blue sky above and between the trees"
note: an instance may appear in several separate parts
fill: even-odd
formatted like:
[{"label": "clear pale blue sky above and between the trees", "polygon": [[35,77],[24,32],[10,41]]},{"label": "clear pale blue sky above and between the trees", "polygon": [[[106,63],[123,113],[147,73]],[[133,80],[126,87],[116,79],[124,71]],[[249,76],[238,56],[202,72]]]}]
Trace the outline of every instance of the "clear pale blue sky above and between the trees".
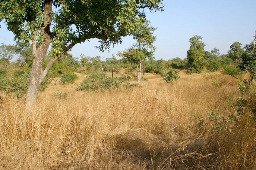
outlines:
[{"label": "clear pale blue sky above and between the trees", "polygon": [[[256,0],[164,0],[163,5],[162,13],[147,12],[147,19],[157,28],[154,32],[157,36],[155,59],[184,59],[190,46],[189,38],[194,35],[202,37],[205,50],[211,51],[216,47],[221,54],[226,54],[235,41],[245,45],[254,39]],[[14,44],[12,32],[7,31],[3,21],[0,25],[0,43]],[[109,52],[100,52],[94,50],[94,46],[99,45],[98,40],[91,39],[90,42],[76,44],[70,53],[74,57],[84,54],[110,58],[135,42],[132,37],[124,37],[122,44],[114,45]]]}]

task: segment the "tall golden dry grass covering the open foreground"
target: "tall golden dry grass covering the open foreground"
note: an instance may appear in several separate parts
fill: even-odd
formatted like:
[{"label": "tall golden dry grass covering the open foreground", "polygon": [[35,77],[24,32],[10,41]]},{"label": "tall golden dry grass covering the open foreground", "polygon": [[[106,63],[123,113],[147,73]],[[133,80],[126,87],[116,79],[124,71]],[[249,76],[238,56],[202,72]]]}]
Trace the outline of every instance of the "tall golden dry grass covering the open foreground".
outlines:
[{"label": "tall golden dry grass covering the open foreground", "polygon": [[210,133],[211,126],[200,133],[190,116],[215,108],[229,113],[226,95],[239,95],[235,78],[193,76],[95,93],[58,85],[69,92],[66,99],[54,96],[52,86],[30,113],[23,100],[5,96],[0,169],[255,169],[249,117],[231,135]]}]

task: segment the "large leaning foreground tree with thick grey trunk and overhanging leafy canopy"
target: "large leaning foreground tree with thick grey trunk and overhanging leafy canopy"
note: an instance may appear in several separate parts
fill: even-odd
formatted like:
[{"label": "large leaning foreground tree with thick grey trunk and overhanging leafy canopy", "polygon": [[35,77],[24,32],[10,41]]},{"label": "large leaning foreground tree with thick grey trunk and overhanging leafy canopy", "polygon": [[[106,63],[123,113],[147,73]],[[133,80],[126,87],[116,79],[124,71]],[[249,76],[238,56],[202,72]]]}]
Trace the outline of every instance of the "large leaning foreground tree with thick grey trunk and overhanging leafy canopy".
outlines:
[{"label": "large leaning foreground tree with thick grey trunk and overhanging leafy canopy", "polygon": [[[52,64],[75,44],[98,38],[100,50],[121,43],[145,18],[144,9],[163,11],[163,0],[9,0],[1,1],[0,21],[18,41],[32,42],[33,65],[27,92],[27,104],[36,101]],[[36,42],[39,46],[36,47]],[[51,45],[51,60],[42,65]]]}]

